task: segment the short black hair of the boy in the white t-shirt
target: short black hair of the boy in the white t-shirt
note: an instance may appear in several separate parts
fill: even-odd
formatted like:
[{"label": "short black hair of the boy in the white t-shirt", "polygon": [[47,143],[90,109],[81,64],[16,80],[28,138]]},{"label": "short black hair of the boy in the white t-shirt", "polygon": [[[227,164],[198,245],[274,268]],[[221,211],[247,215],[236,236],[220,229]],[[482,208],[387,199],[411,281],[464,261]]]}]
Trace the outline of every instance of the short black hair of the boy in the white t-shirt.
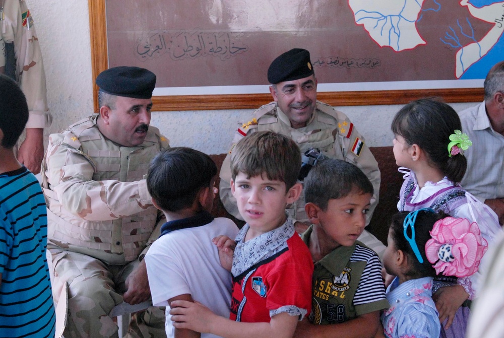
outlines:
[{"label": "short black hair of the boy in the white t-shirt", "polygon": [[216,174],[217,166],[208,155],[191,148],[166,149],[150,163],[147,189],[159,208],[176,212],[191,207]]}]

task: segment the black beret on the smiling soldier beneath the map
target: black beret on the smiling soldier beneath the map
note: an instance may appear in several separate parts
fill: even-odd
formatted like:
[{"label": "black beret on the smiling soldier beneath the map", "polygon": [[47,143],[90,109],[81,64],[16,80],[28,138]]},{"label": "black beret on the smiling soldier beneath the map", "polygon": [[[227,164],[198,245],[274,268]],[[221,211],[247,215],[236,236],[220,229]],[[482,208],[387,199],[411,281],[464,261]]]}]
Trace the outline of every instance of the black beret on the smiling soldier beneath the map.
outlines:
[{"label": "black beret on the smiling soldier beneath the map", "polygon": [[268,68],[268,81],[271,84],[298,80],[313,75],[310,52],[294,48],[278,56]]}]

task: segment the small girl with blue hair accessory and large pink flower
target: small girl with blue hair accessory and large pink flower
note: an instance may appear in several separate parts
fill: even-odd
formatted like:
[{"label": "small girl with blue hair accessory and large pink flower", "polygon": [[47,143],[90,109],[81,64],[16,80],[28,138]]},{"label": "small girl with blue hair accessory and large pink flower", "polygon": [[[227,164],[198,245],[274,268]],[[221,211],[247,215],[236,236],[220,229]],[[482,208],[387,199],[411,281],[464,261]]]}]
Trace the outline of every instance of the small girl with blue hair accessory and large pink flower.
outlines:
[{"label": "small girl with blue hair accessory and large pink flower", "polygon": [[467,277],[478,271],[487,249],[478,225],[445,216],[430,208],[394,216],[383,263],[387,273],[397,277],[387,288],[390,307],[382,313],[383,335],[376,337],[439,337],[433,278]]}]

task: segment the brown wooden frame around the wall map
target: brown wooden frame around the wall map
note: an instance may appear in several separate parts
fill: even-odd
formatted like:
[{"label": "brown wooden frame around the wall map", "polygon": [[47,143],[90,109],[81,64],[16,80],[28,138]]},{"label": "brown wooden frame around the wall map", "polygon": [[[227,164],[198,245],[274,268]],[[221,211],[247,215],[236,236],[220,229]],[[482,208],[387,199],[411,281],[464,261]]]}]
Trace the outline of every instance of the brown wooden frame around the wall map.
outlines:
[{"label": "brown wooden frame around the wall map", "polygon": [[[105,0],[88,0],[93,79],[108,68]],[[93,85],[98,110],[98,88]],[[414,99],[440,96],[446,102],[479,102],[483,88],[319,92],[317,98],[333,106],[405,104]],[[253,109],[271,102],[269,93],[154,96],[156,111]]]}]

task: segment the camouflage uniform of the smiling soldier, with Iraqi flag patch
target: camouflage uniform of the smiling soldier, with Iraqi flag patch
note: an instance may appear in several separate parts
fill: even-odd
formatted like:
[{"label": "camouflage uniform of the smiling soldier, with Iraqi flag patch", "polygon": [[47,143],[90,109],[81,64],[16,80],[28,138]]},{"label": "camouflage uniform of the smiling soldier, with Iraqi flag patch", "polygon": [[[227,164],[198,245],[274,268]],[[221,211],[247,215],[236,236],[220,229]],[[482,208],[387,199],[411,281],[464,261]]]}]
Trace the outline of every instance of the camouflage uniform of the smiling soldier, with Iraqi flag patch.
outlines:
[{"label": "camouflage uniform of the smiling soldier, with Iraqi flag patch", "polygon": [[[263,130],[275,131],[292,138],[299,146],[301,153],[310,148],[317,148],[327,157],[344,160],[359,167],[369,178],[374,188],[371,208],[367,217],[367,223],[369,223],[372,212],[378,203],[380,170],[378,163],[366,146],[364,138],[345,114],[317,101],[316,109],[306,126],[295,129],[291,127],[289,118],[278,108],[277,103],[271,102],[254,111],[250,121],[239,126],[232,147],[248,133]],[[236,199],[231,194],[230,154],[232,147],[220,172],[220,198],[230,214],[242,219],[238,213]],[[299,200],[287,211],[297,221],[307,222],[304,204],[304,194],[301,194]],[[359,240],[380,256],[385,251],[383,243],[366,230]]]}]

